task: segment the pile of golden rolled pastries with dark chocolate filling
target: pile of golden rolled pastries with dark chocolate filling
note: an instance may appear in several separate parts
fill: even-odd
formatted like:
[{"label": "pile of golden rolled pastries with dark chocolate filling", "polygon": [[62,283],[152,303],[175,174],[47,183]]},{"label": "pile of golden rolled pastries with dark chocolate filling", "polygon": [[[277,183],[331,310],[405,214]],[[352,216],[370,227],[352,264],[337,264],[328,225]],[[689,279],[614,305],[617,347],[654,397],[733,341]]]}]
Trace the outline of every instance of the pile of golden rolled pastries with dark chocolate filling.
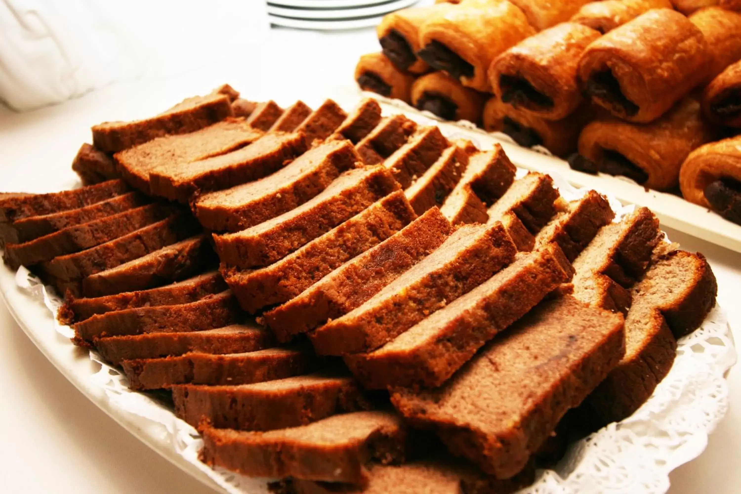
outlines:
[{"label": "pile of golden rolled pastries with dark chocolate filling", "polygon": [[737,2],[439,2],[389,14],[378,36],[363,89],[741,224]]}]

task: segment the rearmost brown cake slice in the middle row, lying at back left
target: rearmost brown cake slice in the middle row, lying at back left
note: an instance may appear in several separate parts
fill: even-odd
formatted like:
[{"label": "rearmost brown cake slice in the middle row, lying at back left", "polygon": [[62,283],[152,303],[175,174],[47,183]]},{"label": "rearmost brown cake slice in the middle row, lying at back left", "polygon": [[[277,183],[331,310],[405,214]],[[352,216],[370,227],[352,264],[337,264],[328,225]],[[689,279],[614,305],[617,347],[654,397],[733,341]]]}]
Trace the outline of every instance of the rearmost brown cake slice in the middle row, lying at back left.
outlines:
[{"label": "rearmost brown cake slice in the middle row, lying at back left", "polygon": [[195,132],[232,115],[228,96],[196,96],[150,119],[93,125],[93,145],[104,153],[118,153],[154,138]]}]

